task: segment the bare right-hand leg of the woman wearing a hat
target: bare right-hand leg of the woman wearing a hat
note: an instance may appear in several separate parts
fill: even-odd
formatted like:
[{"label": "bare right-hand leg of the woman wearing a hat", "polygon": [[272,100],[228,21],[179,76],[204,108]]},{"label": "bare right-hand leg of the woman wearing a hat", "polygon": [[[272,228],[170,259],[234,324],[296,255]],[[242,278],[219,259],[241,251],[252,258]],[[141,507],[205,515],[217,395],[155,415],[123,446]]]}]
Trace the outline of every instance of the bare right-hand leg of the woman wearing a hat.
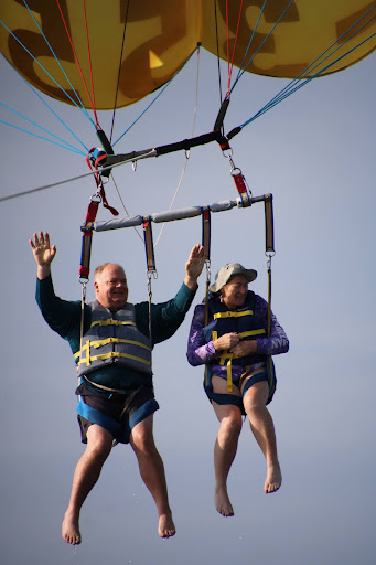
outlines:
[{"label": "bare right-hand leg of the woman wearing a hat", "polygon": [[267,461],[267,478],[264,490],[265,492],[275,492],[282,483],[282,475],[277,455],[275,425],[266,407],[268,394],[267,381],[260,381],[248,388],[244,395],[243,403],[249,419],[250,429]]}]

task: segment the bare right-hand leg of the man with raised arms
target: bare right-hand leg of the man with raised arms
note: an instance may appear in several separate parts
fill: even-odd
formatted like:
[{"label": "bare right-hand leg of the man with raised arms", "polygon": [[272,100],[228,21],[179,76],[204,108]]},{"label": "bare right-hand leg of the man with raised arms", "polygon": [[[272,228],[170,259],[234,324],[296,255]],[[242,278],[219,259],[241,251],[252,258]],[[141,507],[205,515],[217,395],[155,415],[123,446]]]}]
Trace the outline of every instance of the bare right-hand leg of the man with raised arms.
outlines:
[{"label": "bare right-hand leg of the man with raised arms", "polygon": [[158,533],[161,537],[175,534],[169,504],[164,466],[153,438],[153,415],[137,424],[130,434],[130,445],[136,454],[140,475],[158,509]]}]

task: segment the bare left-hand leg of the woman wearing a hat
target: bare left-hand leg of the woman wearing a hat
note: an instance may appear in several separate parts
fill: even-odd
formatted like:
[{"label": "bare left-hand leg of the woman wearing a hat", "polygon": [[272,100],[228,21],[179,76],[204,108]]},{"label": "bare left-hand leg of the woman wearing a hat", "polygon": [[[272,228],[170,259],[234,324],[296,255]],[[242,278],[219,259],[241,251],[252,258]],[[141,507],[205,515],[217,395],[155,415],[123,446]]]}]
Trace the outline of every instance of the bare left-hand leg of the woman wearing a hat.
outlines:
[{"label": "bare left-hand leg of the woman wearing a hat", "polygon": [[[218,376],[212,377],[213,391],[228,394],[227,382]],[[239,391],[234,385],[236,396]],[[241,413],[237,406],[217,404],[213,402],[214,412],[221,423],[218,435],[214,445],[214,503],[219,514],[233,516],[234,510],[227,493],[227,477],[236,456],[239,434],[241,430]]]}]

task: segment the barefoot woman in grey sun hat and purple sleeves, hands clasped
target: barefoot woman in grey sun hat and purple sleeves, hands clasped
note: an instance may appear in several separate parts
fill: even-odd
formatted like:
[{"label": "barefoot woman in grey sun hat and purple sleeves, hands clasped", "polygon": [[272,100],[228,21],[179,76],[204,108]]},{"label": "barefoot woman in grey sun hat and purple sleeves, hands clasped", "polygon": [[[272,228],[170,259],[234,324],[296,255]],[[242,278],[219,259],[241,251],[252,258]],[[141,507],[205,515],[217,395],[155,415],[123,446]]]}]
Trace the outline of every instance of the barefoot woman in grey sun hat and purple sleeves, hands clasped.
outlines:
[{"label": "barefoot woman in grey sun hat and purple sleeves, hands clasped", "polygon": [[222,267],[210,287],[207,321],[205,303],[198,305],[187,345],[191,365],[206,365],[205,392],[221,423],[214,447],[214,501],[224,516],[234,515],[227,476],[237,450],[241,415],[248,416],[266,458],[265,492],[275,492],[282,482],[273,422],[266,405],[276,387],[269,355],[286,353],[289,341],[272,312],[267,337],[268,305],[248,290],[248,282],[256,277],[256,270],[239,263]]}]

